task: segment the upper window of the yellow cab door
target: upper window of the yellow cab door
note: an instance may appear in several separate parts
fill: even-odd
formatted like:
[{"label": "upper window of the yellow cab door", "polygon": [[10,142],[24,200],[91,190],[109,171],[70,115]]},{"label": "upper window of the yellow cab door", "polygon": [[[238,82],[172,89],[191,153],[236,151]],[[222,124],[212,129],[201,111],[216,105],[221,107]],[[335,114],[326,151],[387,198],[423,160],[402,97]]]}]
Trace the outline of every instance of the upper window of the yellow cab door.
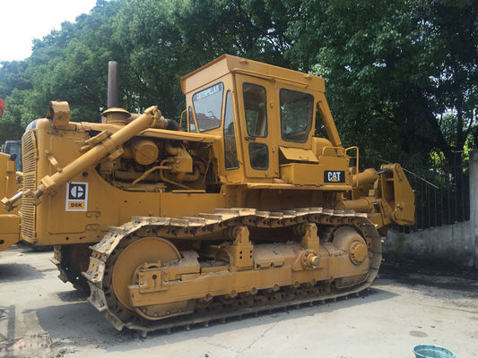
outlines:
[{"label": "upper window of the yellow cab door", "polygon": [[246,127],[251,137],[267,136],[267,101],[265,88],[253,83],[242,85]]}]

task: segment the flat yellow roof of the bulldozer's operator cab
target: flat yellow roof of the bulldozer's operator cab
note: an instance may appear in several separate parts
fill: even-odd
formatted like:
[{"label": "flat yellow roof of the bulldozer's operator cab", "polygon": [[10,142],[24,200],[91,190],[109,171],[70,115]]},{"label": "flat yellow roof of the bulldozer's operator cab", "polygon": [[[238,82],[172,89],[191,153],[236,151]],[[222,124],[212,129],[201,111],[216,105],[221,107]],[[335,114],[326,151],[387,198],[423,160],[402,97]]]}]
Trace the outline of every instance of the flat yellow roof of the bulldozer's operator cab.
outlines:
[{"label": "flat yellow roof of the bulldozer's operator cab", "polygon": [[326,91],[325,80],[313,74],[288,70],[233,55],[222,55],[181,78],[184,94],[207,85],[228,73],[241,73],[265,80],[285,81],[309,90]]}]

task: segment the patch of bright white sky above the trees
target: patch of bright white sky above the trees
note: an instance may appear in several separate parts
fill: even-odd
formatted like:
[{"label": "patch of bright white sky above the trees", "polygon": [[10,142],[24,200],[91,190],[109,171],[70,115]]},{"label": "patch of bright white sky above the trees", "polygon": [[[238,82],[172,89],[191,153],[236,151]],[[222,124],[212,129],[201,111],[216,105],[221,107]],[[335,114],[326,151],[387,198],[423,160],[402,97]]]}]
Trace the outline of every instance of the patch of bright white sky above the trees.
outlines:
[{"label": "patch of bright white sky above the trees", "polygon": [[8,0],[0,3],[0,62],[23,60],[31,55],[33,38],[60,30],[90,13],[96,0]]}]

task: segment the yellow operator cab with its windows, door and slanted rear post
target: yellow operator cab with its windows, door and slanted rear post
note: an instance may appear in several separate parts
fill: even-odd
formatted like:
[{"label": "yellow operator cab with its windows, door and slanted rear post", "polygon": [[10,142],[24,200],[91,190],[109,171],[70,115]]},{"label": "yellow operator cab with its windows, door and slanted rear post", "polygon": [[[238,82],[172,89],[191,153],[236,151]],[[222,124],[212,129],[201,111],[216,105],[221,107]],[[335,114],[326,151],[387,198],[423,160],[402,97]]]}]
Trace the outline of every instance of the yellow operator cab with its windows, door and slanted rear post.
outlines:
[{"label": "yellow operator cab with its windows, door and slanted rear post", "polygon": [[[334,157],[332,167],[341,172],[348,168],[345,158],[336,160],[345,153],[320,77],[222,55],[183,77],[181,86],[188,132],[222,138],[218,168],[226,183],[317,185],[322,181],[300,176],[323,178],[319,165],[331,163],[319,163],[321,157]],[[317,109],[328,139],[313,138]]]}]

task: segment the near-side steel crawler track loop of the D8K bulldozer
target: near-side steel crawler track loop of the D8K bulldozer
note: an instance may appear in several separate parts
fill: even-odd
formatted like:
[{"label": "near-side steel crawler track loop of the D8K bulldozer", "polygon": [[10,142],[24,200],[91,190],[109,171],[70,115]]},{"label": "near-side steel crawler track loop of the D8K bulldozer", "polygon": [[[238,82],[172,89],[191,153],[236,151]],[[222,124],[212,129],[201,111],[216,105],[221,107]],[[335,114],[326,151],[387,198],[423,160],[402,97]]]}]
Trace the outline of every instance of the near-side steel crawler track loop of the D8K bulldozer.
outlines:
[{"label": "near-side steel crawler track loop of the D8K bulldozer", "polygon": [[[355,286],[337,289],[330,282],[317,282],[315,286],[283,286],[276,292],[259,290],[257,294],[239,294],[230,301],[214,297],[207,306],[196,305],[192,314],[163,320],[144,320],[135,312],[129,311],[112,291],[112,265],[122,248],[143,236],[159,236],[165,239],[192,238],[203,234],[222,232],[230,226],[249,226],[260,228],[281,228],[300,223],[316,223],[317,226],[354,226],[363,237],[371,240],[372,253],[369,272],[365,280]],[[216,209],[215,214],[200,214],[198,217],[134,217],[132,221],[119,227],[112,227],[100,243],[91,247],[90,267],[83,272],[90,284],[90,303],[103,312],[112,325],[121,330],[131,328],[143,335],[152,330],[204,324],[209,321],[226,320],[244,314],[258,313],[301,304],[313,304],[334,300],[349,294],[358,294],[369,287],[378,274],[381,262],[381,242],[376,227],[365,214],[353,211],[309,208],[281,211],[259,211],[256,209]]]}]

